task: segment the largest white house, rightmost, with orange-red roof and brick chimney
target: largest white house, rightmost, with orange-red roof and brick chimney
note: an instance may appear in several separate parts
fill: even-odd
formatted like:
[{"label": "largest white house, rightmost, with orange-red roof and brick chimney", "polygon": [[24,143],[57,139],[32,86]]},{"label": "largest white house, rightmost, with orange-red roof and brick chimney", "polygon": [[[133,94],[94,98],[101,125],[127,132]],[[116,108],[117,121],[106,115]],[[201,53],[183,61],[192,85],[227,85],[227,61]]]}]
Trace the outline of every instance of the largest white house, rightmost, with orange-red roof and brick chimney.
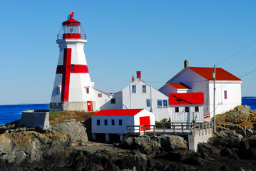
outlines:
[{"label": "largest white house, rightmost, with orange-red roof and brick chimney", "polygon": [[[205,96],[204,113],[210,113],[213,117],[213,72],[214,68],[190,67],[188,61],[184,62],[185,68],[171,78],[160,92],[178,93],[179,88],[171,88],[173,83],[180,83],[186,87],[188,93],[203,92]],[[225,113],[237,105],[241,105],[241,84],[242,80],[225,71],[216,68],[215,74],[215,112],[216,114]],[[185,90],[185,89],[183,89]]]}]

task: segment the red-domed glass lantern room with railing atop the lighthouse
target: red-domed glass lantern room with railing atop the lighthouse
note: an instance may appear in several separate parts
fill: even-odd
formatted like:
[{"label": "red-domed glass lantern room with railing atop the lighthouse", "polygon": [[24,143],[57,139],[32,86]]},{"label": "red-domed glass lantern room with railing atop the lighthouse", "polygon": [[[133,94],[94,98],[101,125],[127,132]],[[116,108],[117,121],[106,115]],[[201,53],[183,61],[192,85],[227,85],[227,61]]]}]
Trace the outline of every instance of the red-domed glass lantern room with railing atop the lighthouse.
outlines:
[{"label": "red-domed glass lantern room with railing atop the lighthouse", "polygon": [[[66,38],[81,38],[86,39],[86,34],[81,34],[81,23],[73,19],[73,12],[70,14],[70,19],[62,23],[60,31],[58,31],[57,39],[66,39]],[[62,31],[62,34],[60,32]],[[84,32],[84,31],[82,31]]]}]

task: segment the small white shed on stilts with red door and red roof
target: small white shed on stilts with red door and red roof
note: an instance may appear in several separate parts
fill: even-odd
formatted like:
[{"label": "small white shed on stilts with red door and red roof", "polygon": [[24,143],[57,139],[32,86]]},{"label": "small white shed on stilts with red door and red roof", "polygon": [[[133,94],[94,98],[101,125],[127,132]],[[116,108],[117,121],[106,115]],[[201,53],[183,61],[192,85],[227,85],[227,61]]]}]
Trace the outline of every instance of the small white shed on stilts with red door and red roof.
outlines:
[{"label": "small white shed on stilts with red door and red roof", "polygon": [[155,116],[145,109],[101,110],[91,116],[91,125],[94,140],[97,134],[106,134],[106,141],[110,140],[110,134],[120,135],[123,140],[127,125],[155,125]]}]

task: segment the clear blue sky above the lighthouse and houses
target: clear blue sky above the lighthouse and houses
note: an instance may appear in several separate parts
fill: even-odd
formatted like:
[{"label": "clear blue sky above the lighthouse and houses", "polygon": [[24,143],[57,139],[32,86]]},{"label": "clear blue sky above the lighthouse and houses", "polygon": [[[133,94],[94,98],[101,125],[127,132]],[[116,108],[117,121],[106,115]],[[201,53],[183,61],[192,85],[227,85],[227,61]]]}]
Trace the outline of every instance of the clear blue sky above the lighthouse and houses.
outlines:
[{"label": "clear blue sky above the lighthouse and houses", "polygon": [[[56,35],[72,11],[87,34],[91,80],[114,93],[136,71],[160,88],[185,59],[240,78],[254,71],[255,9],[253,0],[1,1],[0,105],[50,102]],[[241,79],[242,96],[256,95],[256,71]]]}]

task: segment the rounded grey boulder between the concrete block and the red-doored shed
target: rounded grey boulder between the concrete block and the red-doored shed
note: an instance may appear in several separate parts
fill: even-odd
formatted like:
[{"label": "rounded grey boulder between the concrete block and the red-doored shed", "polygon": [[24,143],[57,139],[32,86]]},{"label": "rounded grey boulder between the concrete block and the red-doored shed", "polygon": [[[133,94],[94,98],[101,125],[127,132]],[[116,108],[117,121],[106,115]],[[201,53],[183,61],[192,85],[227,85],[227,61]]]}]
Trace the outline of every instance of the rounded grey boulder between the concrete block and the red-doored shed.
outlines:
[{"label": "rounded grey boulder between the concrete block and the red-doored shed", "polygon": [[70,120],[70,122],[66,123],[58,123],[48,131],[49,133],[69,134],[72,142],[88,141],[86,128],[81,122],[76,122],[76,120]]}]

